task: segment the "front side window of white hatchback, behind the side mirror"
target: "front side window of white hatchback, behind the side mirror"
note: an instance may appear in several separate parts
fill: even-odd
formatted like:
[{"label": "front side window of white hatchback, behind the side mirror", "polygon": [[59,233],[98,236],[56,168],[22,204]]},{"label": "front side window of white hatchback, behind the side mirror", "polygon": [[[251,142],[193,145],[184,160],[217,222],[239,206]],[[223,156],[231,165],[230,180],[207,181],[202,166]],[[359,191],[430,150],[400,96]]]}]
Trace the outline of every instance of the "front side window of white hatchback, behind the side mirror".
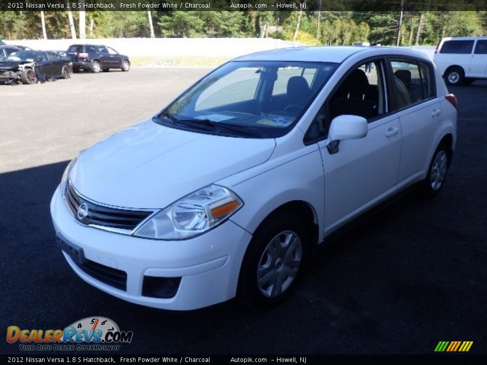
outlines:
[{"label": "front side window of white hatchback, behind the side mirror", "polygon": [[340,115],[357,115],[372,122],[388,113],[385,64],[370,60],[347,72],[311,123],[304,141],[325,138],[331,121]]}]

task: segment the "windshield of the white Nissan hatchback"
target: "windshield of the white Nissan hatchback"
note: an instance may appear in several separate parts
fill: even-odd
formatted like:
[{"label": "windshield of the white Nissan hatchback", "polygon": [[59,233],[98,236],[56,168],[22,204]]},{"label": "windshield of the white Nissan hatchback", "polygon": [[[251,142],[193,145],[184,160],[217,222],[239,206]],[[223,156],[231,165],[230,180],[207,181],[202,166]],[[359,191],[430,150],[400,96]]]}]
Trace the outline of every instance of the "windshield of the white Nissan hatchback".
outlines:
[{"label": "windshield of the white Nissan hatchback", "polygon": [[204,125],[201,129],[210,133],[279,137],[294,127],[337,66],[297,61],[229,62],[173,101],[159,122],[196,129]]}]

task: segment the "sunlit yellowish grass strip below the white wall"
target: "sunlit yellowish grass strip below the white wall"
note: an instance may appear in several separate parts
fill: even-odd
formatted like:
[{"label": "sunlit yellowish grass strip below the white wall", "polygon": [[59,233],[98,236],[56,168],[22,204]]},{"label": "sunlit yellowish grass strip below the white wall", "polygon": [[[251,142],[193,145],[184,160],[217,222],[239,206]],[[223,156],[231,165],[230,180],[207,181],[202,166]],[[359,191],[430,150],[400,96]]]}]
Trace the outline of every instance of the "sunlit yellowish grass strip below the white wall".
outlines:
[{"label": "sunlit yellowish grass strip below the white wall", "polygon": [[201,56],[180,56],[180,57],[158,57],[158,56],[143,56],[130,57],[131,66],[219,66],[228,61],[231,57],[201,57]]}]

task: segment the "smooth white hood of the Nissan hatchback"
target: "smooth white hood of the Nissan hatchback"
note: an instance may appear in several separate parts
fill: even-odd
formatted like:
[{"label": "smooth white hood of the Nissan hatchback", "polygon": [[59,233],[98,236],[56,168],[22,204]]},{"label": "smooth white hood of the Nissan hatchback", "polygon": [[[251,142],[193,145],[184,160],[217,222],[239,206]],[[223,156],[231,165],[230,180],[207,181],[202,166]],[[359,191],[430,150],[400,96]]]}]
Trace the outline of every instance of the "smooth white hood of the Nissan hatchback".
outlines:
[{"label": "smooth white hood of the Nissan hatchback", "polygon": [[216,136],[145,121],[84,151],[69,174],[95,202],[164,208],[224,177],[269,159],[274,139]]}]

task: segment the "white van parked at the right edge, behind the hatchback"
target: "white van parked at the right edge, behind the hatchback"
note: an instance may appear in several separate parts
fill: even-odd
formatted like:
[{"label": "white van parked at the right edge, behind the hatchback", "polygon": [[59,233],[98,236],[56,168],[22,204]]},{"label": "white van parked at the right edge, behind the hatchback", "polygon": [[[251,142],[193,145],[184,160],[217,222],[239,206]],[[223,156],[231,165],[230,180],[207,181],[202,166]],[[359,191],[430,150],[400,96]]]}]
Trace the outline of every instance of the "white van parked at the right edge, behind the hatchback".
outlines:
[{"label": "white van parked at the right edge, behind the hatchback", "polygon": [[433,59],[447,85],[487,79],[487,36],[443,38]]}]

